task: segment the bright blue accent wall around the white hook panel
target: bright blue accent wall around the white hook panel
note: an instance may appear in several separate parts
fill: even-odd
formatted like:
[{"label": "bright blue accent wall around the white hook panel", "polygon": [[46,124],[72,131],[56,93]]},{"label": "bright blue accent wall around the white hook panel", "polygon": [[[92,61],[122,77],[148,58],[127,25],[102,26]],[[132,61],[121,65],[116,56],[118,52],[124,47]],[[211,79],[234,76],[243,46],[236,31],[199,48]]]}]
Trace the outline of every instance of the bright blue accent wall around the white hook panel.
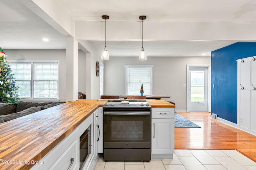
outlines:
[{"label": "bright blue accent wall around the white hook panel", "polygon": [[256,42],[238,42],[212,51],[212,113],[237,123],[237,59],[256,55]]}]

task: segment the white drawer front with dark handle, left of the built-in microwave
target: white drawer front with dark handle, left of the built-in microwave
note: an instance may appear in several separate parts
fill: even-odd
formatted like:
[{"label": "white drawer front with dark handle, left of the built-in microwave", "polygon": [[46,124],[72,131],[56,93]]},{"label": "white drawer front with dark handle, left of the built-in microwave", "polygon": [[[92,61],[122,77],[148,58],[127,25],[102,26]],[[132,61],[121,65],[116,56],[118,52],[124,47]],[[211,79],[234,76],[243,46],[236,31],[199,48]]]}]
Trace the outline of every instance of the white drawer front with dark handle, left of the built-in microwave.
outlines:
[{"label": "white drawer front with dark handle, left of the built-in microwave", "polygon": [[[67,170],[70,167],[72,170],[76,164],[76,141],[74,141],[68,149],[58,158],[56,163],[50,168],[52,170]],[[74,160],[72,160],[74,159]]]}]

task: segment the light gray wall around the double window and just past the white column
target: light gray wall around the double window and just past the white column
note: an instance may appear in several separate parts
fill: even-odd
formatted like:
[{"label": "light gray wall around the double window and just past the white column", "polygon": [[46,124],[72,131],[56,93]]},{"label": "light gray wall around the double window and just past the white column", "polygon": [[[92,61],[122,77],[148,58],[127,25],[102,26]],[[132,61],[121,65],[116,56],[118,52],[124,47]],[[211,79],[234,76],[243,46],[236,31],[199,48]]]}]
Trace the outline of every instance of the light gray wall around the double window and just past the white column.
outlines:
[{"label": "light gray wall around the double window and just past the white column", "polygon": [[[4,52],[8,55],[6,61],[59,60],[60,101],[66,101],[66,50],[4,50]],[[85,53],[81,50],[78,51],[78,67],[78,91],[85,92]]]}]

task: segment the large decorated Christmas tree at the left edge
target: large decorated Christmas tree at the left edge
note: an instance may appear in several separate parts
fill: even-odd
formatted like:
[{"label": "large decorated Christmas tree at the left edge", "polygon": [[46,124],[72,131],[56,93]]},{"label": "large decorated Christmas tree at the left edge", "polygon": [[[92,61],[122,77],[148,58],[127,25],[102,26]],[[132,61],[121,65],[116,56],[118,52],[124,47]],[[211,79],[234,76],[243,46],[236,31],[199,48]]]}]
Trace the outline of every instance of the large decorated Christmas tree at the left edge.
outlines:
[{"label": "large decorated Christmas tree at the left edge", "polygon": [[12,74],[10,65],[5,61],[6,57],[7,55],[0,47],[0,102],[19,102],[18,87],[15,86],[14,74]]}]

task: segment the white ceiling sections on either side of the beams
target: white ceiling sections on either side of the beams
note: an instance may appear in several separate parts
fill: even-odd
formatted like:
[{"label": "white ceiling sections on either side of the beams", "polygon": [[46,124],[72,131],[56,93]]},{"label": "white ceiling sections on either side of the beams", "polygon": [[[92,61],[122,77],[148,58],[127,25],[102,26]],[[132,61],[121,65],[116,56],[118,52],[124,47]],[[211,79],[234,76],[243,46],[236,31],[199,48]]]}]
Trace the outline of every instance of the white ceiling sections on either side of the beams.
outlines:
[{"label": "white ceiling sections on either side of the beams", "polygon": [[[2,49],[66,49],[66,37],[22,2],[30,0],[0,1],[0,47]],[[75,21],[151,22],[256,22],[256,0],[61,0],[63,7]],[[144,27],[144,29],[147,29]],[[140,30],[138,30],[140,31]],[[232,31],[232,30],[231,30]],[[42,38],[48,38],[44,42]],[[102,51],[104,40],[86,39]],[[144,49],[148,56],[189,57],[201,56],[244,39],[180,39],[146,40]],[[250,40],[253,41],[253,40]],[[256,40],[255,40],[256,41]],[[129,39],[107,40],[110,56],[138,56],[141,41]]]}]

